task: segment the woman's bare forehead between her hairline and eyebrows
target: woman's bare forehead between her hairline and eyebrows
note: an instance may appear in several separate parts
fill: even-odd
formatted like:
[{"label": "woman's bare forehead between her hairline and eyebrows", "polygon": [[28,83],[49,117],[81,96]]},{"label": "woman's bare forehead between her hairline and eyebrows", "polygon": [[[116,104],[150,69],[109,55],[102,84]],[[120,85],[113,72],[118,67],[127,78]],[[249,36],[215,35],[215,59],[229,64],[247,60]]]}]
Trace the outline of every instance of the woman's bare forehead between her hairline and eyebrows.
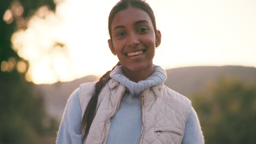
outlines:
[{"label": "woman's bare forehead between her hairline and eyebrows", "polygon": [[146,11],[139,8],[130,7],[128,9],[121,10],[117,14],[115,14],[111,24],[111,29],[113,30],[116,26],[127,27],[129,25],[134,25],[135,22],[141,20],[146,20],[148,21],[149,25],[153,25]]}]

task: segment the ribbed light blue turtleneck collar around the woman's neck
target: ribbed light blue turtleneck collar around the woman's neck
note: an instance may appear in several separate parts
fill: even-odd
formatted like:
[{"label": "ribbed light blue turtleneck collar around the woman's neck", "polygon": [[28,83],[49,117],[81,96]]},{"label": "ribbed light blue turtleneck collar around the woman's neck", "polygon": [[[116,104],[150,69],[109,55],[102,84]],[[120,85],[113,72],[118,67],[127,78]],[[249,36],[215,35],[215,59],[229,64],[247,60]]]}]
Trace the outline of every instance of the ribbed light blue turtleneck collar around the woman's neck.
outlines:
[{"label": "ribbed light blue turtleneck collar around the woman's neck", "polygon": [[115,67],[115,69],[109,74],[110,77],[129,89],[130,94],[138,95],[144,89],[152,87],[164,82],[167,78],[166,71],[158,65],[154,65],[153,74],[150,75],[146,80],[133,82],[129,80],[123,73],[121,65]]}]

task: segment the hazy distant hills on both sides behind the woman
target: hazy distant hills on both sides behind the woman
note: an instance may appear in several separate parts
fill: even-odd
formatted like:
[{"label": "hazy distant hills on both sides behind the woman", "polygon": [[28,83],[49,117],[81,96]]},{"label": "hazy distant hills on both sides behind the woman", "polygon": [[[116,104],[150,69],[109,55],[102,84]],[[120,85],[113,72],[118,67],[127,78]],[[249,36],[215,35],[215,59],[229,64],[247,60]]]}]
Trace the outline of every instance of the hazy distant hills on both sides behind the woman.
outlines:
[{"label": "hazy distant hills on both sides behind the woman", "polygon": [[[219,77],[234,77],[243,82],[256,81],[256,68],[241,66],[224,67],[184,67],[168,69],[165,85],[188,98],[199,91],[208,81],[216,81]],[[53,117],[61,119],[69,95],[80,83],[96,81],[98,77],[85,76],[71,82],[57,82],[52,85],[34,85],[36,91],[43,93],[46,111]]]}]

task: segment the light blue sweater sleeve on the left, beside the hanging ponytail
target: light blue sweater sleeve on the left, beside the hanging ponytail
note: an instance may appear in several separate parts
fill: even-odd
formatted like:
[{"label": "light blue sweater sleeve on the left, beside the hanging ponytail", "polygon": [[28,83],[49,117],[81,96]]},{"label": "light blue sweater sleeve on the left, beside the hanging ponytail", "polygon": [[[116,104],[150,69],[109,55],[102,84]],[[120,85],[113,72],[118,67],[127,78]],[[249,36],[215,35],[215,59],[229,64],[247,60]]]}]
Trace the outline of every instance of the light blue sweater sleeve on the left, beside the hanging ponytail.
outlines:
[{"label": "light blue sweater sleeve on the left, beside the hanging ponytail", "polygon": [[67,101],[57,134],[57,144],[82,144],[83,134],[80,130],[82,109],[79,103],[79,88],[76,89]]}]

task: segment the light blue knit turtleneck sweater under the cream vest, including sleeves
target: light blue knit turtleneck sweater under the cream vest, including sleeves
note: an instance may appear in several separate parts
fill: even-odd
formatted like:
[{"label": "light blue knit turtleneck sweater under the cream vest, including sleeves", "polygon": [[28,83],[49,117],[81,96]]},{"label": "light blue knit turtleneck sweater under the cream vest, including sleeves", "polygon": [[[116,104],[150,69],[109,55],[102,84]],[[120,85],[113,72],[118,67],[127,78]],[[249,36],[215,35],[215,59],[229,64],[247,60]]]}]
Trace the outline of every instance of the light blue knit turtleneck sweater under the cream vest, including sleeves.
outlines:
[{"label": "light blue knit turtleneck sweater under the cream vest, including sleeves", "polygon": [[[110,119],[107,144],[138,143],[141,135],[141,99],[139,94],[146,88],[158,85],[166,80],[166,72],[154,65],[154,73],[148,79],[132,82],[123,75],[121,66],[115,68],[110,77],[126,86],[120,107],[114,117]],[[57,143],[81,144],[83,135],[80,130],[82,109],[79,102],[79,89],[76,89],[68,100],[62,122],[57,134]],[[191,109],[185,125],[183,144],[203,143],[203,135],[199,120],[194,109]]]}]

